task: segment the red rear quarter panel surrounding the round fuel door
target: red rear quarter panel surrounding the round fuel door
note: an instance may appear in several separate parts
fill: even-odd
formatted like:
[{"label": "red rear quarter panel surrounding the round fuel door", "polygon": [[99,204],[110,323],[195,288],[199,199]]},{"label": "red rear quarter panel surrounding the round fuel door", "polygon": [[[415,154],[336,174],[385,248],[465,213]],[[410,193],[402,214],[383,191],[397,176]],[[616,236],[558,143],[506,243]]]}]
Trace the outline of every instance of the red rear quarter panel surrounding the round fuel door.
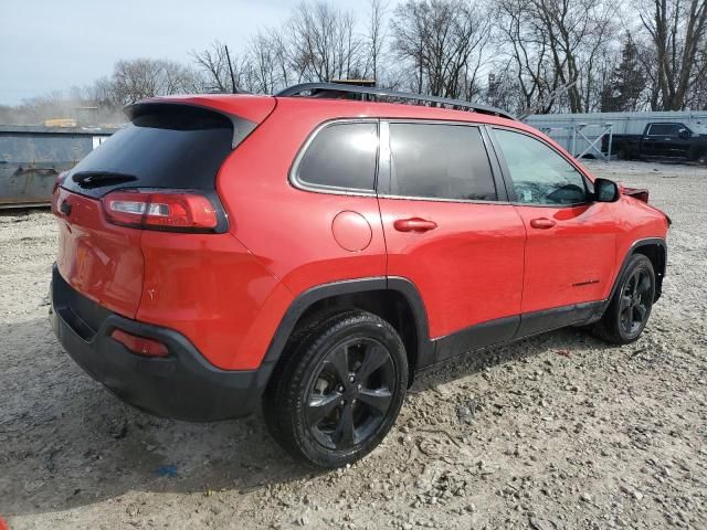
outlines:
[{"label": "red rear quarter panel surrounding the round fuel door", "polygon": [[[217,181],[233,234],[294,296],[330,282],[386,275],[386,242],[376,197],[317,193],[291,186],[289,169],[309,134],[325,120],[344,117],[331,116],[327,109],[331,102],[299,103],[281,99],[277,112],[225,161]],[[360,105],[354,108],[361,110]],[[361,251],[347,251],[334,236],[334,219],[346,211],[359,213],[371,226],[370,243]],[[270,339],[264,338],[263,344]]]}]

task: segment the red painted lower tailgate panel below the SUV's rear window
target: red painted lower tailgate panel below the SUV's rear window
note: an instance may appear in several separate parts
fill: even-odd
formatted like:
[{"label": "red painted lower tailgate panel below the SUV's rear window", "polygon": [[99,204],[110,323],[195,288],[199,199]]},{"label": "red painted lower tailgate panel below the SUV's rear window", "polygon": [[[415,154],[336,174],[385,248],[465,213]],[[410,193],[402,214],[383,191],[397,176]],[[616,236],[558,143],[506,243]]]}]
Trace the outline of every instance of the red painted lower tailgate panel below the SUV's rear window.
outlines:
[{"label": "red painted lower tailgate panel below the SUV's rear window", "polygon": [[87,298],[135,318],[143,292],[143,232],[108,223],[101,201],[61,188],[57,193],[56,203],[71,205],[71,222],[54,211],[62,277]]}]

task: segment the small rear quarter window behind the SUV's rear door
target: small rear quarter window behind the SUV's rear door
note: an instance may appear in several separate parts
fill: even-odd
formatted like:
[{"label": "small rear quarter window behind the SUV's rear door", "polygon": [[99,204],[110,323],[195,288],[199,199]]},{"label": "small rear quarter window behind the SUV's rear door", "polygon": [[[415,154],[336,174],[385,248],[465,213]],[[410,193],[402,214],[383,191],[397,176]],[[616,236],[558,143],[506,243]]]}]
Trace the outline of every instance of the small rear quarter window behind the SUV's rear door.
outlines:
[{"label": "small rear quarter window behind the SUV's rear door", "polygon": [[329,125],[307,147],[297,179],[314,186],[373,190],[377,156],[377,124]]}]

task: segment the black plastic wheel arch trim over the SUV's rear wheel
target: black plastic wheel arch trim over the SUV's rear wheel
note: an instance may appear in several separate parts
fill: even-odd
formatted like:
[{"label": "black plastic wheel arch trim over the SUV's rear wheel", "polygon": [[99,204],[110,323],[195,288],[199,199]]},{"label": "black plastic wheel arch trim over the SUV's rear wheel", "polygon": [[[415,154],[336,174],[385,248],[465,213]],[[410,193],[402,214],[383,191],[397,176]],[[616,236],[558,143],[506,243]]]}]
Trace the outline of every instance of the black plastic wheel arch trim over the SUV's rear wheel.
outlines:
[{"label": "black plastic wheel arch trim over the SUV's rear wheel", "polygon": [[414,328],[418,339],[415,364],[420,367],[434,362],[434,343],[430,340],[428,312],[418,288],[408,278],[374,276],[317,285],[299,294],[289,305],[279,321],[277,330],[263,358],[263,363],[276,362],[281,358],[289,337],[295,330],[297,321],[313,304],[335,296],[373,290],[393,290],[405,298],[415,319]]}]

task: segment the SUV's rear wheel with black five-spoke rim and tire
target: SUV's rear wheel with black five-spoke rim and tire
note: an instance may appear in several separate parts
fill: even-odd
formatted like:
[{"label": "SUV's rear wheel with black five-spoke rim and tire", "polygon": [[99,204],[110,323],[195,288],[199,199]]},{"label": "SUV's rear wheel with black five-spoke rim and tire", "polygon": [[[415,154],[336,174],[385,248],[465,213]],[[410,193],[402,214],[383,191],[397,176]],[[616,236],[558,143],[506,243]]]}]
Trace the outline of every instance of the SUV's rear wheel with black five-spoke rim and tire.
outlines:
[{"label": "SUV's rear wheel with black five-spoke rim and tire", "polygon": [[408,358],[393,327],[367,311],[335,315],[308,326],[285,354],[263,399],[271,435],[325,468],[373,451],[408,388]]}]

